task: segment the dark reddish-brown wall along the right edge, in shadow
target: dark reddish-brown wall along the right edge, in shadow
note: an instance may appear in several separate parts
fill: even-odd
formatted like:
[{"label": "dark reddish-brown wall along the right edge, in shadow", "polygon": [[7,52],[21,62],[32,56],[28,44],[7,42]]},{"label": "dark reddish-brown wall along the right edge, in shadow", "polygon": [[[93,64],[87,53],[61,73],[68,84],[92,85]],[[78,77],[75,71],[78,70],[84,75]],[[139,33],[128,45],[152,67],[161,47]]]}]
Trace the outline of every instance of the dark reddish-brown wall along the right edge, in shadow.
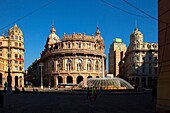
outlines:
[{"label": "dark reddish-brown wall along the right edge, in shadow", "polygon": [[159,74],[156,113],[170,113],[170,1],[158,0]]}]

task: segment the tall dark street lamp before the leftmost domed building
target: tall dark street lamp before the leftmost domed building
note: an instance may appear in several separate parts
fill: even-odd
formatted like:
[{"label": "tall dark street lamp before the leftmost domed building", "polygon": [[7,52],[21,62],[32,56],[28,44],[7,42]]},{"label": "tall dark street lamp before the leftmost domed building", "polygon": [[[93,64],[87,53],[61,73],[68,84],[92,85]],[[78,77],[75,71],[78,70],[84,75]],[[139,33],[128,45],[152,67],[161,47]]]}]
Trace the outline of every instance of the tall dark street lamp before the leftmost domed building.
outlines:
[{"label": "tall dark street lamp before the leftmost domed building", "polygon": [[11,71],[10,71],[10,57],[11,57],[10,42],[11,42],[11,40],[10,40],[9,36],[5,36],[5,35],[3,35],[3,36],[8,39],[8,76],[7,76],[8,87],[7,87],[7,92],[12,93],[12,86],[11,86],[12,77],[11,77]]}]

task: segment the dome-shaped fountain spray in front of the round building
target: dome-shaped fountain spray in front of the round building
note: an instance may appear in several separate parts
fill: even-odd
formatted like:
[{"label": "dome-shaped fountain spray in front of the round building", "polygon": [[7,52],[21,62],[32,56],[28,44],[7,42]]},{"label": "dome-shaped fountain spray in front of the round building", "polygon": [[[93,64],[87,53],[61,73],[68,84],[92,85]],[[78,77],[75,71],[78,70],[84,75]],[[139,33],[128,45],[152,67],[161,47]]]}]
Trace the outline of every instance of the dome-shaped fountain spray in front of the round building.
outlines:
[{"label": "dome-shaped fountain spray in front of the round building", "polygon": [[[87,83],[87,86],[84,86],[84,82]],[[102,89],[134,89],[130,83],[118,77],[88,78],[87,81],[82,81],[79,83],[78,88],[83,87],[102,87]]]}]

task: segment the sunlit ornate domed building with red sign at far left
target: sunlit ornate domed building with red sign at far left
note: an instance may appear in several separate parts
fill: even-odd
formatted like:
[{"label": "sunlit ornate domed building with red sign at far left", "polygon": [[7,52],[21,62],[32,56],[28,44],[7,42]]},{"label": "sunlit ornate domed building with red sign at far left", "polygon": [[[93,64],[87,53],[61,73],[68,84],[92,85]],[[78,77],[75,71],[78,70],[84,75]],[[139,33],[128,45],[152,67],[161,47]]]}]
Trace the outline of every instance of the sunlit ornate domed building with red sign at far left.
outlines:
[{"label": "sunlit ornate domed building with red sign at far left", "polygon": [[[8,52],[10,38],[10,51]],[[0,86],[4,87],[8,76],[8,58],[12,87],[24,86],[24,38],[22,31],[15,24],[8,31],[8,36],[0,36]]]}]

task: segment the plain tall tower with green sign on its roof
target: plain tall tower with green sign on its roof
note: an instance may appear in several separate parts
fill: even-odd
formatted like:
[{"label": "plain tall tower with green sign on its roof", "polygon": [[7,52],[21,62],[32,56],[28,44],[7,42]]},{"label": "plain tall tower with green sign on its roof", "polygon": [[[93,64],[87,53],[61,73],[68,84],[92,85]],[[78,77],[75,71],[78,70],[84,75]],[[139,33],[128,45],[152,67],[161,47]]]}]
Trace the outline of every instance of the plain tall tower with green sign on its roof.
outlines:
[{"label": "plain tall tower with green sign on its roof", "polygon": [[109,74],[119,76],[119,62],[124,58],[126,45],[122,39],[116,38],[109,49]]}]

